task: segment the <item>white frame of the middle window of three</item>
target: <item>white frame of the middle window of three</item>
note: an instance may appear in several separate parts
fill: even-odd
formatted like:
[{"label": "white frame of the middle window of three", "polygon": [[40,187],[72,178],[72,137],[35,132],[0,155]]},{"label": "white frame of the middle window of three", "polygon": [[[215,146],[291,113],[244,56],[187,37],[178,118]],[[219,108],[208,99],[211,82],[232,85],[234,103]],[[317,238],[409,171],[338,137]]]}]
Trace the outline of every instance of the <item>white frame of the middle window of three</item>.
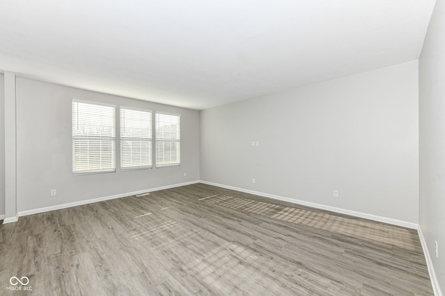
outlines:
[{"label": "white frame of the middle window of three", "polygon": [[[151,137],[149,138],[138,138],[138,137],[122,137],[122,109],[123,110],[133,110],[133,111],[139,111],[139,112],[147,112],[150,115],[150,121],[149,121],[149,133]],[[119,141],[120,141],[120,171],[137,171],[137,170],[146,170],[146,169],[152,169],[153,168],[153,111],[148,109],[142,109],[142,108],[135,108],[135,107],[127,107],[127,106],[120,106],[119,107]],[[147,141],[149,143],[149,159],[151,160],[151,164],[147,166],[122,166],[122,141]]]}]

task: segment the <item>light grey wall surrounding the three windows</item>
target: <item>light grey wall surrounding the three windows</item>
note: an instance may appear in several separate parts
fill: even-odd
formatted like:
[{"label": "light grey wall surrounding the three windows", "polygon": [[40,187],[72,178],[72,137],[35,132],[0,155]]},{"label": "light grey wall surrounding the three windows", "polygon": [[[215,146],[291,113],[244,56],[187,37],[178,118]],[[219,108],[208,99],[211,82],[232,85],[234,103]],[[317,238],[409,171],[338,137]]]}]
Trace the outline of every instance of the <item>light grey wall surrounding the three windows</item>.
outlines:
[{"label": "light grey wall surrounding the three windows", "polygon": [[[181,114],[181,166],[73,176],[73,98]],[[17,78],[17,209],[30,211],[199,180],[199,126],[200,112],[195,110]],[[51,189],[57,190],[55,197],[50,196]]]}]

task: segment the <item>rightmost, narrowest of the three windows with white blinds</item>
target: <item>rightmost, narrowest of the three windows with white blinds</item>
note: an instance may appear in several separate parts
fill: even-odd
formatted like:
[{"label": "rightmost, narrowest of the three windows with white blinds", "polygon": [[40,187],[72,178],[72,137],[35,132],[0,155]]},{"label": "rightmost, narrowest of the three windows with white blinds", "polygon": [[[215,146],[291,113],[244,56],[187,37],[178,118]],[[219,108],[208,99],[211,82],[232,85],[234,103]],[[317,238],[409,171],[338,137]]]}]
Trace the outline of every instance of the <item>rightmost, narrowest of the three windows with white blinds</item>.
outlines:
[{"label": "rightmost, narrowest of the three windows with white blinds", "polygon": [[156,167],[181,164],[180,119],[156,112]]}]

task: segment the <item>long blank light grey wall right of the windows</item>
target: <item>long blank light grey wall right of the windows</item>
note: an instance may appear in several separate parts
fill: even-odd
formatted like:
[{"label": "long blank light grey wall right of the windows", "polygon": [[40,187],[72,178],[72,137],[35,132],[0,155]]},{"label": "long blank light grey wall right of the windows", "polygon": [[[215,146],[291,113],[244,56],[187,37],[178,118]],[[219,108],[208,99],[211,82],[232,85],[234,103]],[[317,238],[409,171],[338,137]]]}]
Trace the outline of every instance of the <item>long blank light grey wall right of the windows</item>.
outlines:
[{"label": "long blank light grey wall right of the windows", "polygon": [[418,132],[413,61],[202,111],[201,179],[418,223]]}]

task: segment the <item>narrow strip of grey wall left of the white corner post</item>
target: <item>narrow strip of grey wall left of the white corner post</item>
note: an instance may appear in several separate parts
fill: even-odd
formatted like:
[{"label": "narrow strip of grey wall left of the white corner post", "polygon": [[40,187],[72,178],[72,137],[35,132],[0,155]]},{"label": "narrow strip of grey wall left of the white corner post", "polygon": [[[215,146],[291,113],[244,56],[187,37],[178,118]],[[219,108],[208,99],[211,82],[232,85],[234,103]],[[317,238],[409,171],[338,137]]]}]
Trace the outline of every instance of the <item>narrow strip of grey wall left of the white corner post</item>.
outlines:
[{"label": "narrow strip of grey wall left of the white corner post", "polygon": [[0,75],[0,216],[5,214],[5,89]]}]

